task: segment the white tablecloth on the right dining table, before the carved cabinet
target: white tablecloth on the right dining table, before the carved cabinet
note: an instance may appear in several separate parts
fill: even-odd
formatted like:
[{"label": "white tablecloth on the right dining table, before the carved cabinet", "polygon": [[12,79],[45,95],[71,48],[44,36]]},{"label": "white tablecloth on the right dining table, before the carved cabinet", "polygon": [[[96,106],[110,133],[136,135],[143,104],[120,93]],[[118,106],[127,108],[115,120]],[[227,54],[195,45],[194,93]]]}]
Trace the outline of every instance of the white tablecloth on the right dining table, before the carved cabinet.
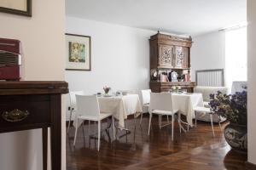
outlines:
[{"label": "white tablecloth on the right dining table, before the carved cabinet", "polygon": [[187,117],[187,122],[193,126],[195,106],[203,106],[202,94],[174,94],[172,93],[173,109],[177,109]]}]

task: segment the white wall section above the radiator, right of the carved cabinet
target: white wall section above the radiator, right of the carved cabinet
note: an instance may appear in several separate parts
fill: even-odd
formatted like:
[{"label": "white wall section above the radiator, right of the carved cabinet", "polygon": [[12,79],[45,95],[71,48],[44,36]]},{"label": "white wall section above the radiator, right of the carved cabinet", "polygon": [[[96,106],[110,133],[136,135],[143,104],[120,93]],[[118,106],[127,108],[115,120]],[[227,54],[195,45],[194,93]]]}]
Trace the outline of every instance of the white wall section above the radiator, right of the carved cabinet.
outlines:
[{"label": "white wall section above the radiator, right of the carved cabinet", "polygon": [[195,81],[195,71],[225,68],[225,35],[214,31],[193,37],[191,48],[191,78]]}]

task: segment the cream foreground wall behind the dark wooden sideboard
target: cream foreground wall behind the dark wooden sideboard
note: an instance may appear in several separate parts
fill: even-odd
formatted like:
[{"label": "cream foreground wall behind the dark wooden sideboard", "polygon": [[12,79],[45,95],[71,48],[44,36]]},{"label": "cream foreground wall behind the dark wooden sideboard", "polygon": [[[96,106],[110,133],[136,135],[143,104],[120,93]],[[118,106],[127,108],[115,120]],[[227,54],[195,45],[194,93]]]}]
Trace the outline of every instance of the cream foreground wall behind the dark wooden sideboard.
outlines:
[{"label": "cream foreground wall behind the dark wooden sideboard", "polygon": [[[0,23],[0,37],[22,43],[24,80],[64,80],[65,1],[33,1],[32,18],[0,13]],[[65,113],[65,107],[62,109]],[[64,170],[66,140],[62,129]],[[0,141],[0,170],[42,169],[41,130],[1,133]]]}]

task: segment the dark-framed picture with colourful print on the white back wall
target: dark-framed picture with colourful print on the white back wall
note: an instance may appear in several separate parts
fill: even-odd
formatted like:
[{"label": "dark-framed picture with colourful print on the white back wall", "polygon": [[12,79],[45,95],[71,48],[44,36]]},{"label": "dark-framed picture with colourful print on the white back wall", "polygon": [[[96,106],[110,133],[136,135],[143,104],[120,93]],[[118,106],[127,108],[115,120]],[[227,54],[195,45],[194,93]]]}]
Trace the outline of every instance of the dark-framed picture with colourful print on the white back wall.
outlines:
[{"label": "dark-framed picture with colourful print on the white back wall", "polygon": [[66,34],[66,70],[90,71],[90,37]]}]

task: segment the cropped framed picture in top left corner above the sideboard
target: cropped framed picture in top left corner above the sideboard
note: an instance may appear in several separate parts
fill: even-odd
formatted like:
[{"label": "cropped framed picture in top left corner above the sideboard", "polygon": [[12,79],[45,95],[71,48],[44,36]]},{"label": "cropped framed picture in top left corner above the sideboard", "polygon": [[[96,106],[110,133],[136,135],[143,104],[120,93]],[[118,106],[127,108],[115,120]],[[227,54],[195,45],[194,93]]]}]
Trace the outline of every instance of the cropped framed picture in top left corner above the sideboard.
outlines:
[{"label": "cropped framed picture in top left corner above the sideboard", "polygon": [[32,16],[32,0],[0,0],[0,12]]}]

